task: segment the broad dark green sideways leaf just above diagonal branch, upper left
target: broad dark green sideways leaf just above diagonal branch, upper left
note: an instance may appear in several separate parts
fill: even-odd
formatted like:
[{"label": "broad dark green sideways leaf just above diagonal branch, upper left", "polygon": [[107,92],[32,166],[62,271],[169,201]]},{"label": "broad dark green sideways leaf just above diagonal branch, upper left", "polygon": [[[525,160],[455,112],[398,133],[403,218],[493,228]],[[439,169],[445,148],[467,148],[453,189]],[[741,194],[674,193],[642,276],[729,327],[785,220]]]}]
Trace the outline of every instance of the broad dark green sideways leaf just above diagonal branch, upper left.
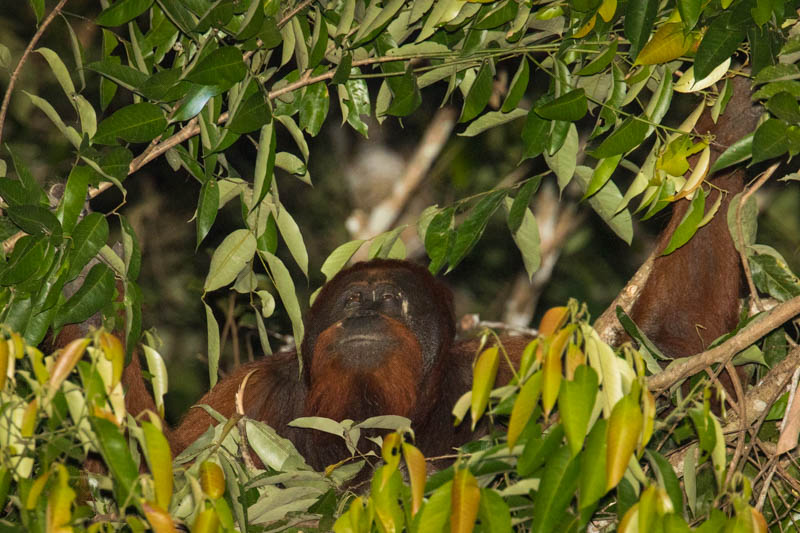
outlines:
[{"label": "broad dark green sideways leaf just above diagonal branch, upper left", "polygon": [[117,139],[131,143],[149,142],[164,128],[167,119],[156,105],[142,102],[123,107],[97,126],[93,142],[116,144]]}]

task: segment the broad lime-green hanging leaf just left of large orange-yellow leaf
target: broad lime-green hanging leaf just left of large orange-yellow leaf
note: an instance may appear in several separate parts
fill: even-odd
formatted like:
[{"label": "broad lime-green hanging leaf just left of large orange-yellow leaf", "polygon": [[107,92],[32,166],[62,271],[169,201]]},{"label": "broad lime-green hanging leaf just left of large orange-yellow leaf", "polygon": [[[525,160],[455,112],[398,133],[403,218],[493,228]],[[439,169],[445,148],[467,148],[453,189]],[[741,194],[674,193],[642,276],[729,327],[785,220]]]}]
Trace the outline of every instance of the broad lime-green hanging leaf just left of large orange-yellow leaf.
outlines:
[{"label": "broad lime-green hanging leaf just left of large orange-yellow leaf", "polygon": [[572,381],[564,380],[558,391],[558,412],[572,456],[578,455],[589,429],[589,419],[597,400],[597,372],[588,365],[575,369]]}]

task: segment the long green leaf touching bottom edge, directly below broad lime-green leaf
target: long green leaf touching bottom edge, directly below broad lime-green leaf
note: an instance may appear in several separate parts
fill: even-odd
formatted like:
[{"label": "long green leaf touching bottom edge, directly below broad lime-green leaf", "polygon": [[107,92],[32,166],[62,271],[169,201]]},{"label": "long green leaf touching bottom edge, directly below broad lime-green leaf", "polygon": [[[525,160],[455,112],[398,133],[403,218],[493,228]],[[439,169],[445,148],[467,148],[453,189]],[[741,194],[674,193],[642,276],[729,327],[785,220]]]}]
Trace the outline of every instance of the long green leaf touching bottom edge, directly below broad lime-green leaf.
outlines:
[{"label": "long green leaf touching bottom edge, directly below broad lime-green leaf", "polygon": [[578,461],[562,446],[547,459],[539,490],[533,501],[531,529],[551,533],[564,519],[578,485]]}]

